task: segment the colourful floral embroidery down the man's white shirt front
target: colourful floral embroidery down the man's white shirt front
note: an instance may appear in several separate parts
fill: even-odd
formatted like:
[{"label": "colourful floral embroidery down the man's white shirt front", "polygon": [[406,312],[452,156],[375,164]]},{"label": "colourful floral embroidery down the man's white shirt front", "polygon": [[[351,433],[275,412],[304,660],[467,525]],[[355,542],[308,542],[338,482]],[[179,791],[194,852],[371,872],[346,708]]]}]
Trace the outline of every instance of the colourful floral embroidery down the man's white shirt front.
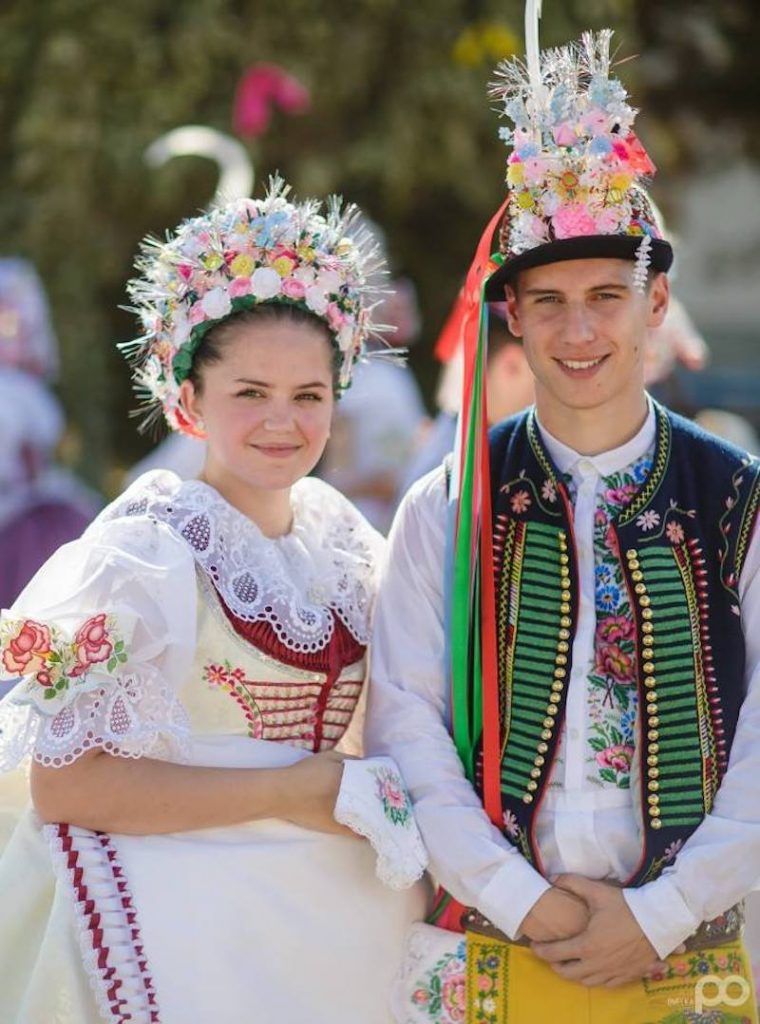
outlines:
[{"label": "colourful floral embroidery down the man's white shirt front", "polygon": [[[588,677],[589,752],[586,777],[595,785],[631,783],[636,692],[635,633],[613,521],[636,497],[652,466],[652,453],[602,477],[594,517],[596,594],[595,664]],[[567,477],[575,501],[575,485]],[[646,515],[646,513],[644,513]]]}]

